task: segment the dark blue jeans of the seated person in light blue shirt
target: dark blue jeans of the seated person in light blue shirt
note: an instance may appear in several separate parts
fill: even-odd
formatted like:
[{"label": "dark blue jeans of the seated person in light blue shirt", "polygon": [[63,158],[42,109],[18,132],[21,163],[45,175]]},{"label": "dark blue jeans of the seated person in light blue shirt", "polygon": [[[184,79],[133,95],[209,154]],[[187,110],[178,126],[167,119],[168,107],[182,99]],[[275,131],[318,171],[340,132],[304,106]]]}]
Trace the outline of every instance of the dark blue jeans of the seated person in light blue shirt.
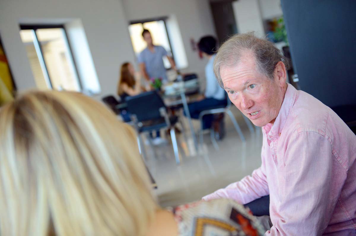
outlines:
[{"label": "dark blue jeans of the seated person in light blue shirt", "polygon": [[[227,101],[224,100],[217,100],[215,98],[205,98],[199,102],[192,102],[188,104],[190,117],[193,119],[199,119],[199,114],[202,111],[226,107]],[[184,112],[185,116],[185,112]],[[213,115],[205,115],[203,116],[203,129],[210,129],[211,123],[213,122]]]}]

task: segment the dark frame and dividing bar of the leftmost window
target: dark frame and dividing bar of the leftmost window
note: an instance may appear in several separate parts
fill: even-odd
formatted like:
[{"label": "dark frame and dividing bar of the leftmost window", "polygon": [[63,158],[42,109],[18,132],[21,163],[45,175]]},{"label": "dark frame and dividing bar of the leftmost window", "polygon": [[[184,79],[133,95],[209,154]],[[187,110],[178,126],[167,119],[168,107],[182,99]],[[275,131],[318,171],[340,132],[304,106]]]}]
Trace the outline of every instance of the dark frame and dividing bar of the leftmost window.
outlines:
[{"label": "dark frame and dividing bar of the leftmost window", "polygon": [[[73,61],[73,66],[74,66],[74,73],[76,74],[76,76],[78,78],[79,92],[83,92],[82,81],[80,81],[77,65],[75,64],[75,60],[74,60],[73,53],[72,53],[72,47],[70,46],[70,43],[69,43],[69,40],[68,40],[68,34],[67,34],[67,31],[66,31],[66,28],[64,27],[64,25],[63,24],[59,24],[59,25],[27,25],[27,24],[21,24],[20,25],[20,30],[33,30],[35,32],[36,42],[33,42],[33,43],[37,43],[38,48],[40,48],[42,58],[44,58],[43,57],[42,46],[41,46],[41,43],[38,42],[38,37],[37,37],[36,30],[38,30],[38,29],[53,29],[53,28],[62,28],[63,29],[64,35],[66,36],[65,40],[67,40],[67,44],[68,44],[69,54],[70,54],[70,56],[72,56],[72,61]],[[51,77],[49,76],[49,73],[48,73],[46,61],[43,60],[43,63],[45,65],[45,70],[46,70],[45,72],[46,72],[46,74],[48,76],[49,86],[51,86],[50,88],[53,90],[52,81],[51,81]]]}]

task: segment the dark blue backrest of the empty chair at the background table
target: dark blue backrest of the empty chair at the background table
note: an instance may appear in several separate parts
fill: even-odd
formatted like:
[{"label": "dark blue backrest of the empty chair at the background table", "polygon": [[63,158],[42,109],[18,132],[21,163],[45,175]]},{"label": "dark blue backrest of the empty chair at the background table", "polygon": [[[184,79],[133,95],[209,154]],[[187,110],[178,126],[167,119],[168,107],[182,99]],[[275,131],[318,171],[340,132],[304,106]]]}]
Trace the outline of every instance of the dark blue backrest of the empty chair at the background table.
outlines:
[{"label": "dark blue backrest of the empty chair at the background table", "polygon": [[135,114],[138,121],[162,118],[159,109],[166,107],[157,91],[144,92],[126,97],[128,111]]}]

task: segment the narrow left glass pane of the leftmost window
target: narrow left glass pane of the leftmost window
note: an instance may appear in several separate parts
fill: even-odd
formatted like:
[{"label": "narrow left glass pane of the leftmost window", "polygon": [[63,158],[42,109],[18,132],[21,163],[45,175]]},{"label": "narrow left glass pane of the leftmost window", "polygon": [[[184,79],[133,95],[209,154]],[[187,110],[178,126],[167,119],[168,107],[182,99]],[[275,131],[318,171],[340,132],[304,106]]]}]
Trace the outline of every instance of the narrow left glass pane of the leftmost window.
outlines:
[{"label": "narrow left glass pane of the leftmost window", "polygon": [[[38,58],[39,48],[35,47],[33,41],[36,41],[35,31],[33,30],[21,30],[20,36],[23,44],[25,44],[28,60],[30,61],[33,77],[38,88],[47,89],[51,86],[48,84],[48,76],[46,70],[43,68],[44,64],[40,53],[40,59]],[[36,44],[37,45],[37,44]],[[41,64],[42,62],[42,64]]]}]

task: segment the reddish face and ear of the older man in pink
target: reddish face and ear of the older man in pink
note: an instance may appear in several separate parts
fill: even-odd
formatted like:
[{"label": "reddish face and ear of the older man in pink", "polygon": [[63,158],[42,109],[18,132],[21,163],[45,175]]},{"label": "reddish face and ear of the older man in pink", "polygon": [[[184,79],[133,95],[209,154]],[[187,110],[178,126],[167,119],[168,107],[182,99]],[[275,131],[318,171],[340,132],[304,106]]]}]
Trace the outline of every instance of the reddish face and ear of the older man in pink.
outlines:
[{"label": "reddish face and ear of the older man in pink", "polygon": [[273,124],[284,99],[285,69],[283,75],[278,71],[282,66],[279,64],[274,71],[274,80],[271,80],[257,70],[252,53],[246,52],[241,58],[235,66],[221,66],[224,88],[231,102],[253,124],[260,127]]}]

